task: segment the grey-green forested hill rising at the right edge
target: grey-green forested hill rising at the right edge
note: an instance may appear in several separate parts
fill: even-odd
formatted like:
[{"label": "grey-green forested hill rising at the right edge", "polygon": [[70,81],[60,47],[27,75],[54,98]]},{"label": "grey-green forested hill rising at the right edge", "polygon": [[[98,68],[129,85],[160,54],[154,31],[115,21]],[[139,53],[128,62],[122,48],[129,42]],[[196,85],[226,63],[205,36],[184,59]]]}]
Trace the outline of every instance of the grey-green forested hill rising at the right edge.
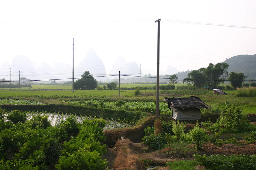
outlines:
[{"label": "grey-green forested hill rising at the right edge", "polygon": [[245,76],[256,76],[256,54],[254,55],[236,55],[227,58],[222,63],[228,63],[228,74],[232,72],[244,73]]}]

